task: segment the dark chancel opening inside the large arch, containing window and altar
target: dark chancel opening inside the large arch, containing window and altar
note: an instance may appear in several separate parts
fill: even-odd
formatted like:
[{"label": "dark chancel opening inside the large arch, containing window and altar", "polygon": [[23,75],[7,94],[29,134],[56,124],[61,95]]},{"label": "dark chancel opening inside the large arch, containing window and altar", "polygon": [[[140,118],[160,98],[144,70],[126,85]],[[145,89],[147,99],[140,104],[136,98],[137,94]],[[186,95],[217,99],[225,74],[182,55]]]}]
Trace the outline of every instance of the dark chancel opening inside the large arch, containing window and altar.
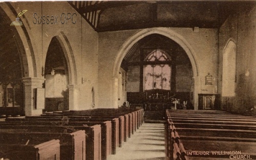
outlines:
[{"label": "dark chancel opening inside the large arch, containing window and altar", "polygon": [[128,75],[126,90],[131,106],[193,109],[192,64],[184,49],[170,38],[160,34],[143,37],[127,52],[121,68]]}]

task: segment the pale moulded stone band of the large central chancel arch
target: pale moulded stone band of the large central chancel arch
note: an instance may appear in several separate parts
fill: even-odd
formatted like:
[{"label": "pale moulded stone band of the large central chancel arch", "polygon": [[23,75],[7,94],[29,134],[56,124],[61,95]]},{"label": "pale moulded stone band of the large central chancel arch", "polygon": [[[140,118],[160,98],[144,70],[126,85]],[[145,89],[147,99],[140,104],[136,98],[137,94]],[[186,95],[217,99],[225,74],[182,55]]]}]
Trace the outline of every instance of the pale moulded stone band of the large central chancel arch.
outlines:
[{"label": "pale moulded stone band of the large central chancel arch", "polygon": [[[128,52],[137,48],[138,45],[139,45],[138,42],[140,40],[143,40],[143,38],[145,38],[147,36],[150,36],[150,35],[154,35],[154,34],[163,36],[166,39],[171,40],[173,42],[173,44],[178,46],[178,50],[180,52],[182,52],[184,55],[186,55],[185,57],[186,57],[186,60],[188,60],[188,62],[189,62],[188,63],[190,65],[189,70],[191,72],[191,77],[189,78],[189,83],[192,84],[191,86],[189,86],[191,88],[188,87],[189,88],[189,91],[188,91],[189,93],[187,93],[187,94],[189,94],[189,95],[187,96],[187,98],[188,99],[191,98],[190,99],[190,102],[192,103],[191,105],[194,107],[194,109],[198,109],[199,80],[198,80],[198,65],[196,63],[195,53],[194,53],[192,47],[189,45],[189,43],[180,34],[177,34],[175,31],[172,31],[170,29],[164,29],[164,28],[144,29],[143,31],[137,32],[132,37],[130,37],[123,44],[122,48],[119,51],[119,54],[116,57],[116,60],[115,60],[114,66],[113,66],[113,77],[118,77],[120,69],[123,68],[123,67],[120,67],[120,66],[122,66],[123,63],[126,63],[126,60],[124,60],[124,59],[125,59],[125,57],[128,56]],[[178,60],[179,60],[179,58],[178,58]],[[175,62],[175,61],[173,61],[173,62]],[[173,65],[173,66],[175,66],[175,65]],[[135,67],[134,69],[137,70],[137,72],[141,70],[141,68],[139,68],[139,67],[137,67],[137,68]],[[175,74],[175,71],[172,71],[172,74]],[[129,73],[128,73],[128,76],[129,76]],[[137,76],[138,76],[138,74],[137,74]],[[141,76],[140,80],[142,80],[143,79],[143,74],[140,74],[140,76]],[[128,77],[128,79],[129,79],[129,77]],[[180,80],[182,80],[182,79],[183,78],[180,78]],[[183,80],[183,82],[186,83],[186,80]],[[174,83],[171,83],[171,90],[172,89],[175,90],[175,87],[177,85],[172,86],[172,84],[174,84]],[[129,88],[128,85],[129,84],[127,84],[127,89]],[[131,85],[131,86],[134,86],[134,85]],[[115,85],[113,83],[112,93],[115,91],[114,87],[115,87]],[[140,83],[140,91],[143,91],[141,89],[143,89],[143,83]],[[183,90],[183,89],[181,89],[181,90]],[[113,94],[113,95],[115,95],[115,94]],[[169,96],[171,96],[171,93],[169,94]],[[115,103],[115,100],[113,100],[113,104],[117,104],[117,103]]]}]

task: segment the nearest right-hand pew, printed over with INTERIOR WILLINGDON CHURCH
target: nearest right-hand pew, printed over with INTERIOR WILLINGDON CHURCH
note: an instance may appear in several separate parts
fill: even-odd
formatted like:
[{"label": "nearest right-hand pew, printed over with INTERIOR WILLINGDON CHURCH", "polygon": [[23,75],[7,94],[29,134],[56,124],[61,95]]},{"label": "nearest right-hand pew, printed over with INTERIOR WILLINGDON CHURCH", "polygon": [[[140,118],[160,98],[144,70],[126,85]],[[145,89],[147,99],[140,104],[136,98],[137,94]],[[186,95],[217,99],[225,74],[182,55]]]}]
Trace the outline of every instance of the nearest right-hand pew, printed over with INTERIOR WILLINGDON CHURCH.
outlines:
[{"label": "nearest right-hand pew, printed over with INTERIOR WILLINGDON CHURCH", "polygon": [[[189,160],[228,160],[228,159],[256,159],[256,140],[246,142],[241,138],[230,139],[211,139],[207,137],[180,137],[186,149]],[[197,154],[195,153],[197,151]],[[199,151],[201,153],[199,153]],[[222,151],[222,152],[221,152]],[[231,151],[224,154],[223,151]],[[232,151],[238,152],[233,154]],[[241,153],[239,153],[241,151]],[[219,152],[219,153],[218,153]],[[221,152],[221,153],[220,153]],[[244,158],[234,158],[234,156],[243,156]],[[246,155],[246,156],[244,156]],[[248,156],[250,155],[250,156]],[[230,157],[231,156],[231,157]]]}]

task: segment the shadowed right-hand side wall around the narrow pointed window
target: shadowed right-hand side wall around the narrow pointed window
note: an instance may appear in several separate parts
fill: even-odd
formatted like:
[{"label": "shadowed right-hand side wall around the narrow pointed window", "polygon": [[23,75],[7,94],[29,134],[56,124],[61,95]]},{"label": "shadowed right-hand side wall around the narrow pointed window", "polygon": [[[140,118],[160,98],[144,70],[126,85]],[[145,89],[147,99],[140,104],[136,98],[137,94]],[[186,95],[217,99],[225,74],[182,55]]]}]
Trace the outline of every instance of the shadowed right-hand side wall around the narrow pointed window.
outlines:
[{"label": "shadowed right-hand side wall around the narrow pointed window", "polygon": [[[256,114],[256,6],[240,6],[220,28],[219,80],[223,53],[227,44],[236,44],[235,96],[221,97],[222,109],[236,113]],[[219,83],[221,90],[222,83]]]}]

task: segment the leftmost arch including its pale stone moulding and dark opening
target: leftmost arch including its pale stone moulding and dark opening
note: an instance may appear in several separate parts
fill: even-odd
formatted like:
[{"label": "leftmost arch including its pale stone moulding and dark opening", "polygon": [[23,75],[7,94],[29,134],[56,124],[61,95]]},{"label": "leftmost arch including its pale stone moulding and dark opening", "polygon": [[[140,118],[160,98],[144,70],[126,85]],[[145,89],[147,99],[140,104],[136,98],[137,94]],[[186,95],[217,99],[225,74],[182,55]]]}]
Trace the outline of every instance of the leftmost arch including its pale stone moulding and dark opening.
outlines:
[{"label": "leftmost arch including its pale stone moulding and dark opening", "polygon": [[[12,20],[17,17],[17,12],[10,3],[0,3],[0,17],[1,37],[4,37],[0,42],[3,50],[1,51],[1,60],[4,60],[1,63],[1,72],[3,72],[1,75],[6,77],[0,80],[5,86],[5,91],[1,93],[0,98],[3,105],[0,106],[12,106],[12,109],[5,109],[7,114],[28,115],[31,113],[28,108],[33,103],[31,94],[25,94],[28,93],[26,92],[27,80],[25,79],[37,76],[34,50],[26,26],[10,26]],[[24,92],[23,89],[25,89]]]}]

